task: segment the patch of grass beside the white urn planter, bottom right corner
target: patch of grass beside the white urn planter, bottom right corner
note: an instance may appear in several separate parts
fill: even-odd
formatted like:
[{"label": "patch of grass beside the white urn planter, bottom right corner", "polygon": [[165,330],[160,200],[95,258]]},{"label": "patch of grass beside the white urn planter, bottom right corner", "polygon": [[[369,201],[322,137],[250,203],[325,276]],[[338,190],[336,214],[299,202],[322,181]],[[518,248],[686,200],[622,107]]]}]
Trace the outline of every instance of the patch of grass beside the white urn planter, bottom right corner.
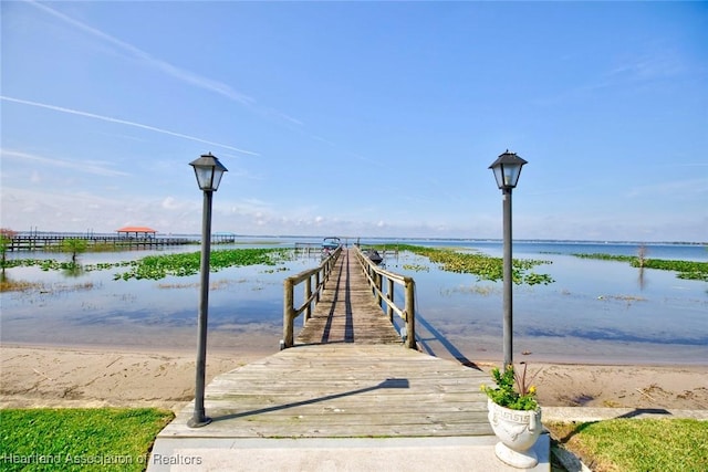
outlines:
[{"label": "patch of grass beside the white urn planter, bottom right corner", "polygon": [[614,419],[545,426],[595,472],[708,471],[708,421]]}]

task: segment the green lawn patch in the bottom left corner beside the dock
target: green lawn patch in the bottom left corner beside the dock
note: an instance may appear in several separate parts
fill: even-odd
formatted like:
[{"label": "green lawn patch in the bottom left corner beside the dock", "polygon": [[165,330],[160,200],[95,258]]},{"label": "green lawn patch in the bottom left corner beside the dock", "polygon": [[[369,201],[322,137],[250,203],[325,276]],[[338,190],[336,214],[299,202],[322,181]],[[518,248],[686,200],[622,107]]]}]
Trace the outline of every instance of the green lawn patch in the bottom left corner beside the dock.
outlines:
[{"label": "green lawn patch in the bottom left corner beside the dock", "polygon": [[0,410],[0,470],[143,471],[173,418],[153,408]]}]

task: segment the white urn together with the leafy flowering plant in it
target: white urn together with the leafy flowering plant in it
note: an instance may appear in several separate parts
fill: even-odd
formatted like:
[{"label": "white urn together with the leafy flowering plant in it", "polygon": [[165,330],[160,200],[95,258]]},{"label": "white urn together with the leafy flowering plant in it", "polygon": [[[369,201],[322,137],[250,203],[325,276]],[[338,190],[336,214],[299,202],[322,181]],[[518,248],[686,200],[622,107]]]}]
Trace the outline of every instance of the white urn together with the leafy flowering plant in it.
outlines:
[{"label": "white urn together with the leafy flowering plant in it", "polygon": [[535,399],[535,387],[527,381],[527,365],[518,375],[513,366],[503,371],[498,367],[491,370],[497,388],[482,385],[487,394],[487,408],[491,429],[500,442],[494,453],[509,465],[529,469],[539,462],[533,444],[541,434],[541,408]]}]

